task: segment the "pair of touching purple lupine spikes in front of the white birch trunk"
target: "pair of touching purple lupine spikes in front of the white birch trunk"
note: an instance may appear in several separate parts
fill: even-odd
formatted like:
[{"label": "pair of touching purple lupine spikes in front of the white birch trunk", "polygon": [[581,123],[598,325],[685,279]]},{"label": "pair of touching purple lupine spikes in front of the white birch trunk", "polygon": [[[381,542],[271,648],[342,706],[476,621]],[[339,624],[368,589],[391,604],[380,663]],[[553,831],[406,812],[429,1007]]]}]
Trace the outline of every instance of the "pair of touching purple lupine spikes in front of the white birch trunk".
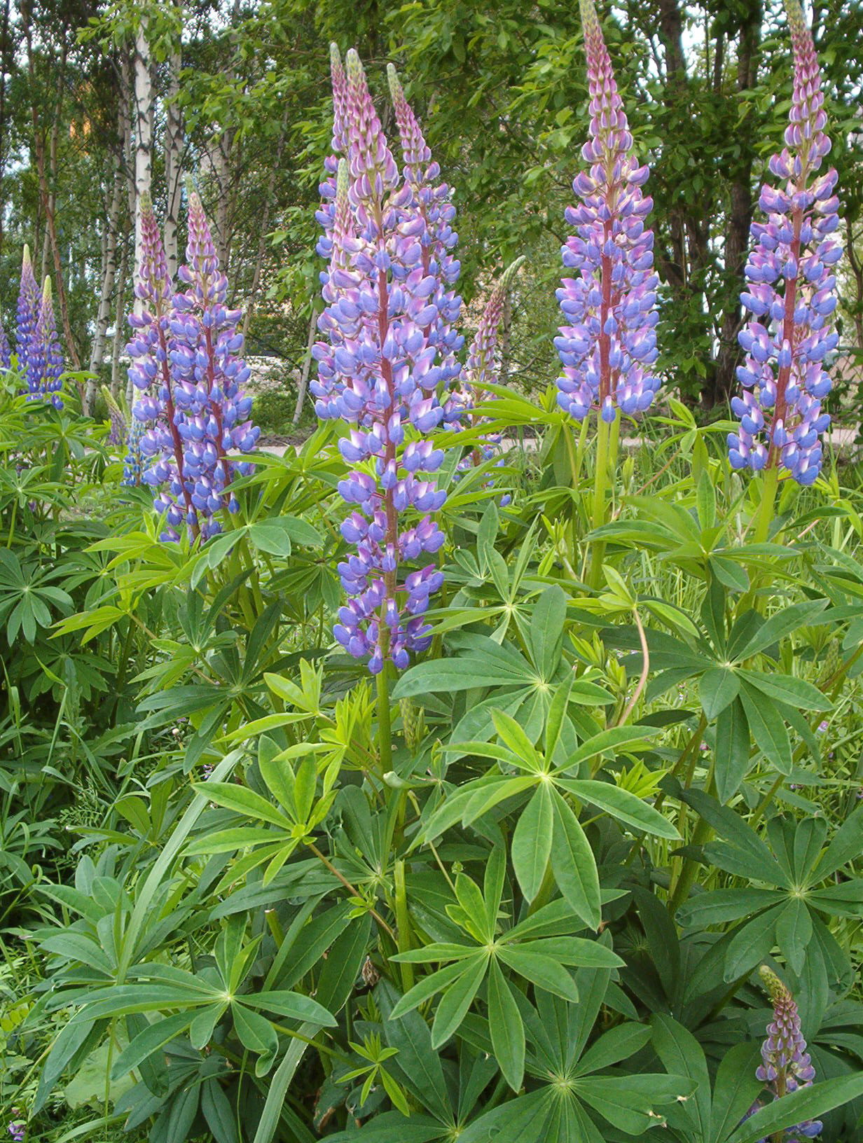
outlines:
[{"label": "pair of touching purple lupine spikes in front of the white birch trunk", "polygon": [[235,454],[251,451],[259,435],[247,419],[251,398],[242,393],[249,369],[238,357],[241,312],[225,304],[227,280],[194,191],[189,199],[186,265],[178,271],[185,291],[175,291],[168,278],[149,200],[142,234],[135,291],[143,309],[129,315],[136,335],[128,345],[129,376],[141,394],[133,415],[146,426],[139,440],[145,465],[141,479],[153,488],[153,505],[165,515],[162,539],[178,539],[183,526],[190,537],[207,539],[221,531],[224,509],[239,509],[231,483],[251,465]]}]

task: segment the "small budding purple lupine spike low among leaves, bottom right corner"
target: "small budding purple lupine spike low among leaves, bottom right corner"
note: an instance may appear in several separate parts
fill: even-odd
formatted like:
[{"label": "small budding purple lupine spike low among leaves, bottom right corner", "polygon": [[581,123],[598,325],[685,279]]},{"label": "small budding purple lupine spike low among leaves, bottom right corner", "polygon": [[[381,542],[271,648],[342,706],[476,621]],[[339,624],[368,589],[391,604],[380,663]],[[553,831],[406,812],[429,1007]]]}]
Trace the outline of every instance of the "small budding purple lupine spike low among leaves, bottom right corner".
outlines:
[{"label": "small budding purple lupine spike low among leaves, bottom right corner", "polygon": [[[767,966],[761,966],[759,976],[773,1002],[773,1020],[767,1025],[767,1039],[761,1045],[761,1063],[756,1076],[767,1085],[774,1098],[781,1100],[799,1087],[809,1087],[815,1078],[815,1069],[806,1050],[806,1040],[800,1030],[800,1013],[791,992]],[[746,1118],[753,1116],[761,1105],[760,1101],[754,1103]],[[788,1127],[783,1133],[783,1143],[813,1140],[821,1134],[822,1126],[821,1120],[809,1119]],[[768,1141],[760,1140],[759,1143]]]}]

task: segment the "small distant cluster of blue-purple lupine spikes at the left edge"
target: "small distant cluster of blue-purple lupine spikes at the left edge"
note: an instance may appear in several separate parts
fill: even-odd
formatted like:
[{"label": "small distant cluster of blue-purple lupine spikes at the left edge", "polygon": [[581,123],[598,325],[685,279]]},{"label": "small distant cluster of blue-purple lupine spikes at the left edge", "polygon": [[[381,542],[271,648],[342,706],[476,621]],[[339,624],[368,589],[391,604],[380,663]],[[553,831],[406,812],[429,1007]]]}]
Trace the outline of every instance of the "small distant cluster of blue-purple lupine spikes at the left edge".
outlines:
[{"label": "small distant cluster of blue-purple lupine spikes at the left edge", "polygon": [[[31,400],[48,400],[55,408],[63,408],[63,350],[57,336],[57,321],[51,299],[51,280],[46,277],[40,293],[30,258],[24,247],[21,265],[17,322],[15,330],[15,361],[17,371],[26,378],[26,393]],[[0,327],[0,365],[9,369],[13,349],[6,330]]]}]

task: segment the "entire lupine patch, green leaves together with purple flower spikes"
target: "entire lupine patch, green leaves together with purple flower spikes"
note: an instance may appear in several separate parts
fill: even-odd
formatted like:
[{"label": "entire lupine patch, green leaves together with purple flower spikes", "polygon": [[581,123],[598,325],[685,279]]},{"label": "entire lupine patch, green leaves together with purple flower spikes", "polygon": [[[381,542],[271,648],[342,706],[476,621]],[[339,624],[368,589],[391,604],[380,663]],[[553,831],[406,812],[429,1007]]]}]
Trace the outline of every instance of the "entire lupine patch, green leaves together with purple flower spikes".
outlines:
[{"label": "entire lupine patch, green leaves together with purple flower spikes", "polygon": [[[191,187],[181,288],[143,218],[129,443],[147,489],[120,405],[106,446],[3,370],[11,1137],[860,1137],[861,479],[816,457],[817,417],[794,437],[805,469],[777,435],[780,394],[788,417],[804,374],[822,384],[833,246],[810,290],[799,250],[764,254],[788,222],[758,223],[751,264],[793,322],[782,341],[756,322],[769,352],[746,392],[776,413],[760,470],[671,392],[641,416],[645,167],[588,0],[583,17],[581,274],[566,384],[541,401],[500,383],[518,263],[469,339],[457,189],[395,73],[400,159],[335,49],[305,443],[259,448]],[[825,125],[790,18],[793,182]],[[837,217],[830,190],[767,194],[772,215],[790,195],[792,246],[807,211]],[[624,456],[631,424],[649,440]],[[503,465],[482,453],[498,433]]]}]

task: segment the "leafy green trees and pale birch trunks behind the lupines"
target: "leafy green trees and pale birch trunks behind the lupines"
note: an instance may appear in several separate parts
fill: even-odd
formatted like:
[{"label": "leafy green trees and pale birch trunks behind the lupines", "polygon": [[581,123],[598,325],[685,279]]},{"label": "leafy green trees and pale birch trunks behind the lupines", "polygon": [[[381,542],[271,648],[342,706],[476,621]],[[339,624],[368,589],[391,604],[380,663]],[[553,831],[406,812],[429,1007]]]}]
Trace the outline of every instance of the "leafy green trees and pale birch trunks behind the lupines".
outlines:
[{"label": "leafy green trees and pale birch trunks behind the lupines", "polygon": [[[604,7],[637,146],[653,168],[661,363],[686,399],[710,408],[734,385],[749,225],[788,115],[790,45],[781,6],[626,0]],[[841,345],[855,353],[863,346],[856,256],[863,11],[852,0],[813,7],[850,247]],[[16,11],[5,0],[0,23],[7,327],[29,242],[37,273],[41,265],[64,286],[70,360],[97,373],[113,363],[119,384],[126,328],[121,321],[118,329],[117,315],[131,303],[136,191],[146,158],[153,198],[174,222],[185,209],[182,176],[198,182],[234,301],[250,311],[250,351],[299,368],[320,269],[313,216],[329,151],[334,40],[358,48],[373,83],[383,81],[390,61],[403,74],[454,187],[465,299],[527,255],[505,369],[527,387],[554,376],[558,247],[586,131],[577,5],[26,0]]]}]

